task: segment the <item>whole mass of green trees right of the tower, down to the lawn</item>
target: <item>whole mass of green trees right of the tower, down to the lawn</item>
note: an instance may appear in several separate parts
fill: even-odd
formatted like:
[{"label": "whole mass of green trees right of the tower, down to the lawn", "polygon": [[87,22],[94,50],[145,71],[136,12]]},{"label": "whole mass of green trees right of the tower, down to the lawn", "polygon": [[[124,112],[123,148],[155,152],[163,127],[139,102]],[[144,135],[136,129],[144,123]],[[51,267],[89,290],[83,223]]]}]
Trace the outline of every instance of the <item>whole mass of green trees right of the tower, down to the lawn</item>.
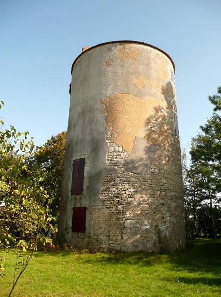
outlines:
[{"label": "whole mass of green trees right of the tower, down to the lawn", "polygon": [[209,96],[213,115],[192,138],[191,166],[184,168],[187,235],[216,237],[221,229],[221,87]]}]

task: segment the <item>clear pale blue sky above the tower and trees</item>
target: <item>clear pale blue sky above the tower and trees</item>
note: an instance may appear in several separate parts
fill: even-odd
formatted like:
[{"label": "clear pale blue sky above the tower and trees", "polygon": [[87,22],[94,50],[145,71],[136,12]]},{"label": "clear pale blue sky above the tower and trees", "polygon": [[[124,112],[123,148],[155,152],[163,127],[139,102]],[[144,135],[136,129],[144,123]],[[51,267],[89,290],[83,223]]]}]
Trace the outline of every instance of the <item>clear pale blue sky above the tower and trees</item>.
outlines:
[{"label": "clear pale blue sky above the tower and trees", "polygon": [[0,116],[37,145],[67,129],[71,65],[82,46],[143,41],[176,65],[181,146],[212,114],[221,85],[220,0],[1,0]]}]

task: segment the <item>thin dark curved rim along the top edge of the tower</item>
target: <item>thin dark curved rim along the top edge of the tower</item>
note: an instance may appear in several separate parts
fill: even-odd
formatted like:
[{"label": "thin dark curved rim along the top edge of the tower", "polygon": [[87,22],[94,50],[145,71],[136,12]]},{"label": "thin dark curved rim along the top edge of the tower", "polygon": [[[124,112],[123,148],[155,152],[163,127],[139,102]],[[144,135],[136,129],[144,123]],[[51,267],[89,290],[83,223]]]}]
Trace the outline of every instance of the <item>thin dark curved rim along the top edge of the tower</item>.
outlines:
[{"label": "thin dark curved rim along the top edge of the tower", "polygon": [[99,44],[96,44],[94,46],[91,46],[89,47],[88,49],[86,49],[85,51],[83,51],[79,56],[76,57],[76,59],[74,60],[73,64],[72,64],[72,67],[71,67],[71,74],[72,74],[72,71],[73,71],[73,68],[74,68],[74,65],[76,63],[76,61],[79,59],[79,57],[81,57],[85,52],[93,49],[93,48],[96,48],[98,46],[102,46],[102,45],[106,45],[106,44],[111,44],[111,43],[137,43],[137,44],[141,44],[141,45],[146,45],[146,46],[149,46],[149,47],[152,47],[156,50],[159,50],[160,52],[162,52],[163,54],[165,54],[171,61],[172,65],[173,65],[173,70],[174,70],[174,73],[176,71],[176,67],[175,67],[175,64],[174,64],[174,61],[173,59],[171,58],[170,55],[168,55],[168,53],[166,53],[164,50],[160,49],[159,47],[156,47],[154,45],[151,45],[149,43],[146,43],[146,42],[142,42],[142,41],[134,41],[134,40],[118,40],[118,41],[108,41],[108,42],[103,42],[103,43],[99,43]]}]

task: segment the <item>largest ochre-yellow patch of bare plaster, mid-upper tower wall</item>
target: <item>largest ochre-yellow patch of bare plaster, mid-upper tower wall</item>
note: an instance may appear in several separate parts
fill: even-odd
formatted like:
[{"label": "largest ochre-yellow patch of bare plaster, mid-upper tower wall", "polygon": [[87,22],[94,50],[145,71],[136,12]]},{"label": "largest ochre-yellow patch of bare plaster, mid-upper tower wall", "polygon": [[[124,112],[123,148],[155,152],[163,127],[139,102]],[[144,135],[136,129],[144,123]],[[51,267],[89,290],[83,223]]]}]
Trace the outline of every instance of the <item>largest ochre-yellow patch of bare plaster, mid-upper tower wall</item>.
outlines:
[{"label": "largest ochre-yellow patch of bare plaster, mid-upper tower wall", "polygon": [[[166,102],[155,97],[144,99],[121,93],[101,99],[100,104],[104,106],[101,113],[105,115],[107,130],[112,132],[112,140],[127,152],[132,151],[136,136],[146,137],[153,112],[167,108]],[[153,142],[156,144],[156,140]]]}]

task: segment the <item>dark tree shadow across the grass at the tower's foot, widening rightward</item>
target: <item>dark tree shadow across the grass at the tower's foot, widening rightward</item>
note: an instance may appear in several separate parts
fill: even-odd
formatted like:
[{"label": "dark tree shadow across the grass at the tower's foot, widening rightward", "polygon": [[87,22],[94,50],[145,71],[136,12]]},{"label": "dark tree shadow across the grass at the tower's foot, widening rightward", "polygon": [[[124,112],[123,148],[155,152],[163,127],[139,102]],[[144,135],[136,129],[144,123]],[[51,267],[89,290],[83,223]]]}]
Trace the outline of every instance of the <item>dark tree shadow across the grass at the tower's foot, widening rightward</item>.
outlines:
[{"label": "dark tree shadow across the grass at the tower's foot, widening rightward", "polygon": [[[137,267],[156,267],[162,272],[161,280],[169,283],[183,283],[187,285],[203,284],[206,286],[221,285],[220,259],[221,240],[194,239],[188,242],[186,251],[174,253],[147,253],[147,252],[108,252],[90,253],[73,250],[52,252],[38,252],[36,258],[74,257],[77,265],[94,265],[96,269],[102,265],[135,265]],[[75,257],[76,256],[76,257]],[[75,265],[73,263],[73,265]],[[136,269],[136,267],[135,267]],[[168,271],[168,272],[167,272]],[[166,272],[167,275],[164,275]],[[169,277],[171,273],[180,277]],[[200,275],[200,273],[204,275]],[[208,276],[208,277],[206,277]]]}]

